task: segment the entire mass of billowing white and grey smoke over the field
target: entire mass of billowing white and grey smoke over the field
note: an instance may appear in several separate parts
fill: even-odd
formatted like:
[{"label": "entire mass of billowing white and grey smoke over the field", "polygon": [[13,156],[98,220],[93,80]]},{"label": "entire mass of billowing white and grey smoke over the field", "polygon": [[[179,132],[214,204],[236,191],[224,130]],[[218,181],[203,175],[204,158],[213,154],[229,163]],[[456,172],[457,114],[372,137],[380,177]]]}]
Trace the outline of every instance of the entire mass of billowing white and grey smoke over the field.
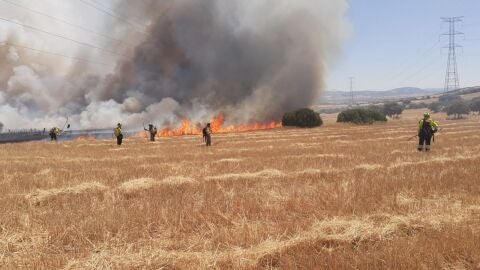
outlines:
[{"label": "entire mass of billowing white and grey smoke over the field", "polygon": [[[230,123],[278,120],[285,111],[315,103],[348,32],[345,0],[159,2],[110,4],[128,18],[122,23],[95,11],[92,27],[109,29],[123,42],[100,42],[91,33],[78,38],[100,42],[121,57],[70,49],[115,67],[59,63],[1,46],[0,120],[7,126],[51,125],[69,115],[82,128],[181,118],[205,122],[219,112]],[[6,33],[0,44],[43,44],[22,27],[0,30]]]}]

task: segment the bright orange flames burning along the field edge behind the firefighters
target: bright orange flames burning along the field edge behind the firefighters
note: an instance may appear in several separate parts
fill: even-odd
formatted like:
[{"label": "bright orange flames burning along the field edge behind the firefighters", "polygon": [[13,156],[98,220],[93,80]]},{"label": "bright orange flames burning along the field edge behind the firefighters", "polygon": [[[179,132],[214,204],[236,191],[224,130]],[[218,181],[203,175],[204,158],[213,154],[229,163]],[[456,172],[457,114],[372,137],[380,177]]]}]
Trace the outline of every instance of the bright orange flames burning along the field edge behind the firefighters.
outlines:
[{"label": "bright orange flames burning along the field edge behind the firefighters", "polygon": [[[254,131],[254,130],[263,130],[263,129],[272,129],[279,128],[282,126],[281,122],[270,122],[270,123],[255,123],[255,124],[245,124],[245,125],[231,125],[224,126],[225,124],[225,115],[219,114],[210,122],[210,128],[213,133],[233,133],[233,132],[244,132],[244,131]],[[172,136],[183,136],[183,135],[201,135],[202,128],[199,125],[194,125],[190,120],[183,120],[182,126],[176,129],[164,128],[162,129],[157,136],[159,137],[172,137]]]}]

